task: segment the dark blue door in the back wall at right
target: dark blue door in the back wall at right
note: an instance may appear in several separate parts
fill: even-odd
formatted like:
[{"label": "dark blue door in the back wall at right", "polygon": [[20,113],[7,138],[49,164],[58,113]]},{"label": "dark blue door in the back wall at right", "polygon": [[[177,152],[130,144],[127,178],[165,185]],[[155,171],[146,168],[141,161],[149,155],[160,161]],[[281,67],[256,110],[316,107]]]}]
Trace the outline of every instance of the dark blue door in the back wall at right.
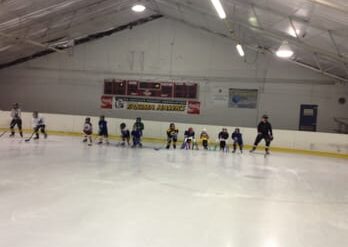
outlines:
[{"label": "dark blue door in the back wall at right", "polygon": [[302,131],[317,131],[318,105],[301,105],[300,126]]}]

